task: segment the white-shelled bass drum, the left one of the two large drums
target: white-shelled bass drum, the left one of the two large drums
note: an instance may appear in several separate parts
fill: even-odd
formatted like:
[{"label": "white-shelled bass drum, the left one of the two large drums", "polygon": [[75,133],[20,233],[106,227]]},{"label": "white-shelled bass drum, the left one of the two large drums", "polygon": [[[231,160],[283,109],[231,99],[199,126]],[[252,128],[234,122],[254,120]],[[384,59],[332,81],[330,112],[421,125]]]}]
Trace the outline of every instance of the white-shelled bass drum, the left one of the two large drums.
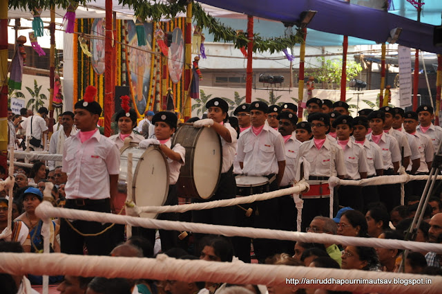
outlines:
[{"label": "white-shelled bass drum, the left one of the two large drums", "polygon": [[[158,147],[147,149],[136,146],[123,147],[119,163],[118,203],[124,205],[127,193],[127,157],[132,154],[132,198],[137,206],[162,206],[169,193],[169,164]],[[140,217],[155,219],[157,213],[140,214]]]}]

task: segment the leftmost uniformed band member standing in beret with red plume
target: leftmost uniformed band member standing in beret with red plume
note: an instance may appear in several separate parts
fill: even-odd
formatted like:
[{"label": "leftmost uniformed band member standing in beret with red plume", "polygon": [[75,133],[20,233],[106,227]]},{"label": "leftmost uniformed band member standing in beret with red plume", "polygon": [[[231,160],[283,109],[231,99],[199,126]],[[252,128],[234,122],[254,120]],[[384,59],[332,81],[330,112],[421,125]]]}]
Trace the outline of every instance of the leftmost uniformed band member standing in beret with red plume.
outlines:
[{"label": "leftmost uniformed band member standing in beret with red plume", "polygon": [[[97,122],[102,107],[94,101],[97,89],[88,86],[83,100],[75,104],[74,122],[79,132],[64,141],[63,172],[68,174],[65,186],[66,208],[111,212],[117,194],[119,151],[117,146],[99,134]],[[108,255],[115,244],[108,224],[96,221],[72,221],[79,232],[99,233],[97,236],[79,235],[68,220],[60,220],[61,252],[83,254],[86,244],[90,255]]]}]

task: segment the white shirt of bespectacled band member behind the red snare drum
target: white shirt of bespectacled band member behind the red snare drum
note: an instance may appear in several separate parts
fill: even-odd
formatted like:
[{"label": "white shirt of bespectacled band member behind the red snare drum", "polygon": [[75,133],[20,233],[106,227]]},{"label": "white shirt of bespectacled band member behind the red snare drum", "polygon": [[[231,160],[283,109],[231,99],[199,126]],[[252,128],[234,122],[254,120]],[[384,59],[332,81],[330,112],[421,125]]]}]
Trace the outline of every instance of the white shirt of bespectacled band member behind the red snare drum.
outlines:
[{"label": "white shirt of bespectacled band member behind the red snare drum", "polygon": [[314,139],[301,143],[296,167],[300,165],[300,158],[307,160],[310,164],[310,176],[346,176],[344,151],[342,147],[333,143],[329,138],[318,150]]}]

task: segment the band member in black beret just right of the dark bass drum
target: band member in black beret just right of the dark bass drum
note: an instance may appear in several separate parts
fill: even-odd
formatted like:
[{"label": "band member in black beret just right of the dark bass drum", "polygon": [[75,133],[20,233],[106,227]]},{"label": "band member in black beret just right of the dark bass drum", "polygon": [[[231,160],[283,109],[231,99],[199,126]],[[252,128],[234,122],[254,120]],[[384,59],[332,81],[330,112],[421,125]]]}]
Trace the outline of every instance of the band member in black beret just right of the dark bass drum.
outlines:
[{"label": "band member in black beret just right of the dark bass drum", "polygon": [[[284,140],[278,131],[265,125],[267,104],[255,101],[250,104],[251,128],[238,139],[237,158],[242,173],[247,176],[266,176],[270,190],[278,190],[285,169]],[[256,203],[255,226],[257,228],[278,228],[278,199]],[[250,249],[250,243],[243,242],[242,250]],[[255,239],[253,248],[260,262],[278,250],[279,242]],[[240,250],[240,249],[238,249]],[[238,254],[238,250],[236,250]]]}]

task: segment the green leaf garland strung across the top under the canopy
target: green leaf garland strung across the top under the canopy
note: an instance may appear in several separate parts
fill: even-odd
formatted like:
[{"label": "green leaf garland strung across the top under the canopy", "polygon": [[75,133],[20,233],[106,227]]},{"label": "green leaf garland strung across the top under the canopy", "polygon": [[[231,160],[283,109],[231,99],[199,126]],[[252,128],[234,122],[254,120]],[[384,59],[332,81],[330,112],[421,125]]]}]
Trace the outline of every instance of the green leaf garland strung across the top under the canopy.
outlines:
[{"label": "green leaf garland strung across the top under the canopy", "polygon": [[[66,9],[70,0],[9,0],[9,8],[23,8],[32,10],[32,8],[50,9],[50,6],[55,5]],[[80,5],[86,5],[86,2],[93,2],[93,0],[79,0]],[[119,4],[132,8],[137,17],[142,19],[153,19],[153,21],[160,21],[160,19],[174,19],[180,12],[186,12],[186,0],[177,0],[175,3],[156,3],[151,4],[150,1],[145,0],[119,0]],[[229,26],[224,26],[218,19],[206,14],[199,3],[193,2],[193,18],[200,28],[207,28],[209,33],[213,35],[215,42],[233,42],[235,48],[246,47],[249,39],[244,34],[237,34],[236,30]],[[294,35],[287,37],[273,37],[264,39],[260,37],[259,33],[253,34],[253,52],[270,53],[282,52],[287,48],[295,46],[303,42],[301,30],[296,30]]]}]

